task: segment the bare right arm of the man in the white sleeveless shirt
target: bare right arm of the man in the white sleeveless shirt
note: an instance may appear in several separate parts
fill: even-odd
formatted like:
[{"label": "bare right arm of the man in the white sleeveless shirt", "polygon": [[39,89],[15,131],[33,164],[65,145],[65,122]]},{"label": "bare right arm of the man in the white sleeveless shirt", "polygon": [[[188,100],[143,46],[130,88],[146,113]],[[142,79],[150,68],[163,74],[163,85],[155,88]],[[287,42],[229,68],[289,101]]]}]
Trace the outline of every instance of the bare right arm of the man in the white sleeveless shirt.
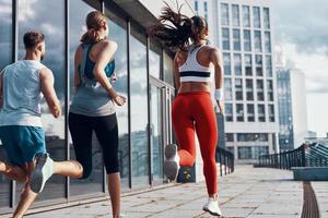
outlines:
[{"label": "bare right arm of the man in the white sleeveless shirt", "polygon": [[61,107],[54,88],[54,74],[49,69],[44,68],[40,70],[39,76],[42,83],[42,92],[46,98],[49,110],[55,118],[58,118],[61,116]]}]

